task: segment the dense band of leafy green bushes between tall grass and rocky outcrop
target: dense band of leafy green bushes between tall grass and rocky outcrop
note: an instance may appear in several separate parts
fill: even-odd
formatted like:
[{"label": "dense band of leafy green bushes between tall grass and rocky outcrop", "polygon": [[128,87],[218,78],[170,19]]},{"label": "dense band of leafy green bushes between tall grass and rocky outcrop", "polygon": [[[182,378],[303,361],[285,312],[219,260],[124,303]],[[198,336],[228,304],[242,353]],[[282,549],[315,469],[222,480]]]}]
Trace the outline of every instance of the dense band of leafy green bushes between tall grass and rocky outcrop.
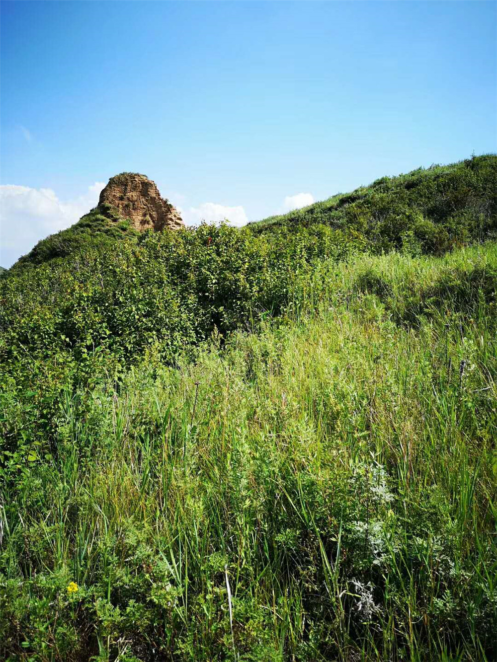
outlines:
[{"label": "dense band of leafy green bushes between tall grass and rocky outcrop", "polygon": [[129,365],[152,347],[173,361],[215,329],[250,328],[267,312],[301,307],[317,265],[356,247],[353,234],[325,227],[268,242],[201,226],[20,270],[2,285],[3,362],[25,375],[32,361],[57,361],[94,376],[110,356]]}]

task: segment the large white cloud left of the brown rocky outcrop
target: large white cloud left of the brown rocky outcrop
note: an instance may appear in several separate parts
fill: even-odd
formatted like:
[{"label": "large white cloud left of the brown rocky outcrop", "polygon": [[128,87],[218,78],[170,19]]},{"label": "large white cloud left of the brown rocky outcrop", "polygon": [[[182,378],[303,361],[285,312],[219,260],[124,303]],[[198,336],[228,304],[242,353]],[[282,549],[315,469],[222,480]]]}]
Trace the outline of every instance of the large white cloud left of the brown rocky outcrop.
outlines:
[{"label": "large white cloud left of the brown rocky outcrop", "polygon": [[52,189],[0,186],[0,265],[10,267],[40,239],[74,224],[97,205],[104,186],[96,181],[85,194],[68,201]]}]

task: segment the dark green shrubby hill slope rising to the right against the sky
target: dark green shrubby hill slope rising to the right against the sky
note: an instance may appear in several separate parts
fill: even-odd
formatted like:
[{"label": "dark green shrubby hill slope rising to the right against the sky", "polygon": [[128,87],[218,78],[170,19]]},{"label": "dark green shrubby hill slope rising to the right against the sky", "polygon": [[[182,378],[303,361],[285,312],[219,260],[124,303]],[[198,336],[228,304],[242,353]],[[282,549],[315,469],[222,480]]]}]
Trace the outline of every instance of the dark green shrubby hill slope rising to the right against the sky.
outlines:
[{"label": "dark green shrubby hill slope rising to the right against the sky", "polygon": [[473,156],[448,166],[380,177],[352,193],[249,224],[252,232],[295,231],[324,224],[362,234],[375,252],[417,242],[443,252],[455,242],[484,240],[497,229],[497,156]]}]

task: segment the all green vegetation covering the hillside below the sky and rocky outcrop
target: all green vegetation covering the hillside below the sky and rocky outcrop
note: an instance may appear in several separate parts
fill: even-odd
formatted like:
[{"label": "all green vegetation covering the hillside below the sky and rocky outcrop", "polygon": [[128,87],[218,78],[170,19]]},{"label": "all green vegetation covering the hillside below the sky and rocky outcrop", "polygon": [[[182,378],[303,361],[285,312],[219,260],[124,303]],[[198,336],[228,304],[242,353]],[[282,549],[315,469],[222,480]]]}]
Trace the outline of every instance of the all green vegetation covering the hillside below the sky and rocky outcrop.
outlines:
[{"label": "all green vegetation covering the hillside below the sky and rocky outcrop", "polygon": [[242,229],[97,208],[20,260],[0,657],[494,659],[495,177]]}]

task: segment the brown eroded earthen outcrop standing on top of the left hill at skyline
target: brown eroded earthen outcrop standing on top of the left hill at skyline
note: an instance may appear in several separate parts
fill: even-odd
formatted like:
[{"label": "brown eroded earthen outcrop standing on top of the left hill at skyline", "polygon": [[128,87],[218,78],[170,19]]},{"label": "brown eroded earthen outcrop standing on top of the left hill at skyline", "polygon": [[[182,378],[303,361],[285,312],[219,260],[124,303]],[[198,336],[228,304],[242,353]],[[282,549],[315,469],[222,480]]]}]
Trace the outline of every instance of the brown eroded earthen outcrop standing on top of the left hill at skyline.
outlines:
[{"label": "brown eroded earthen outcrop standing on top of the left hill at skyline", "polygon": [[109,179],[100,193],[99,205],[112,205],[137,230],[179,230],[184,225],[180,213],[160,197],[155,183],[138,173],[121,173]]}]

